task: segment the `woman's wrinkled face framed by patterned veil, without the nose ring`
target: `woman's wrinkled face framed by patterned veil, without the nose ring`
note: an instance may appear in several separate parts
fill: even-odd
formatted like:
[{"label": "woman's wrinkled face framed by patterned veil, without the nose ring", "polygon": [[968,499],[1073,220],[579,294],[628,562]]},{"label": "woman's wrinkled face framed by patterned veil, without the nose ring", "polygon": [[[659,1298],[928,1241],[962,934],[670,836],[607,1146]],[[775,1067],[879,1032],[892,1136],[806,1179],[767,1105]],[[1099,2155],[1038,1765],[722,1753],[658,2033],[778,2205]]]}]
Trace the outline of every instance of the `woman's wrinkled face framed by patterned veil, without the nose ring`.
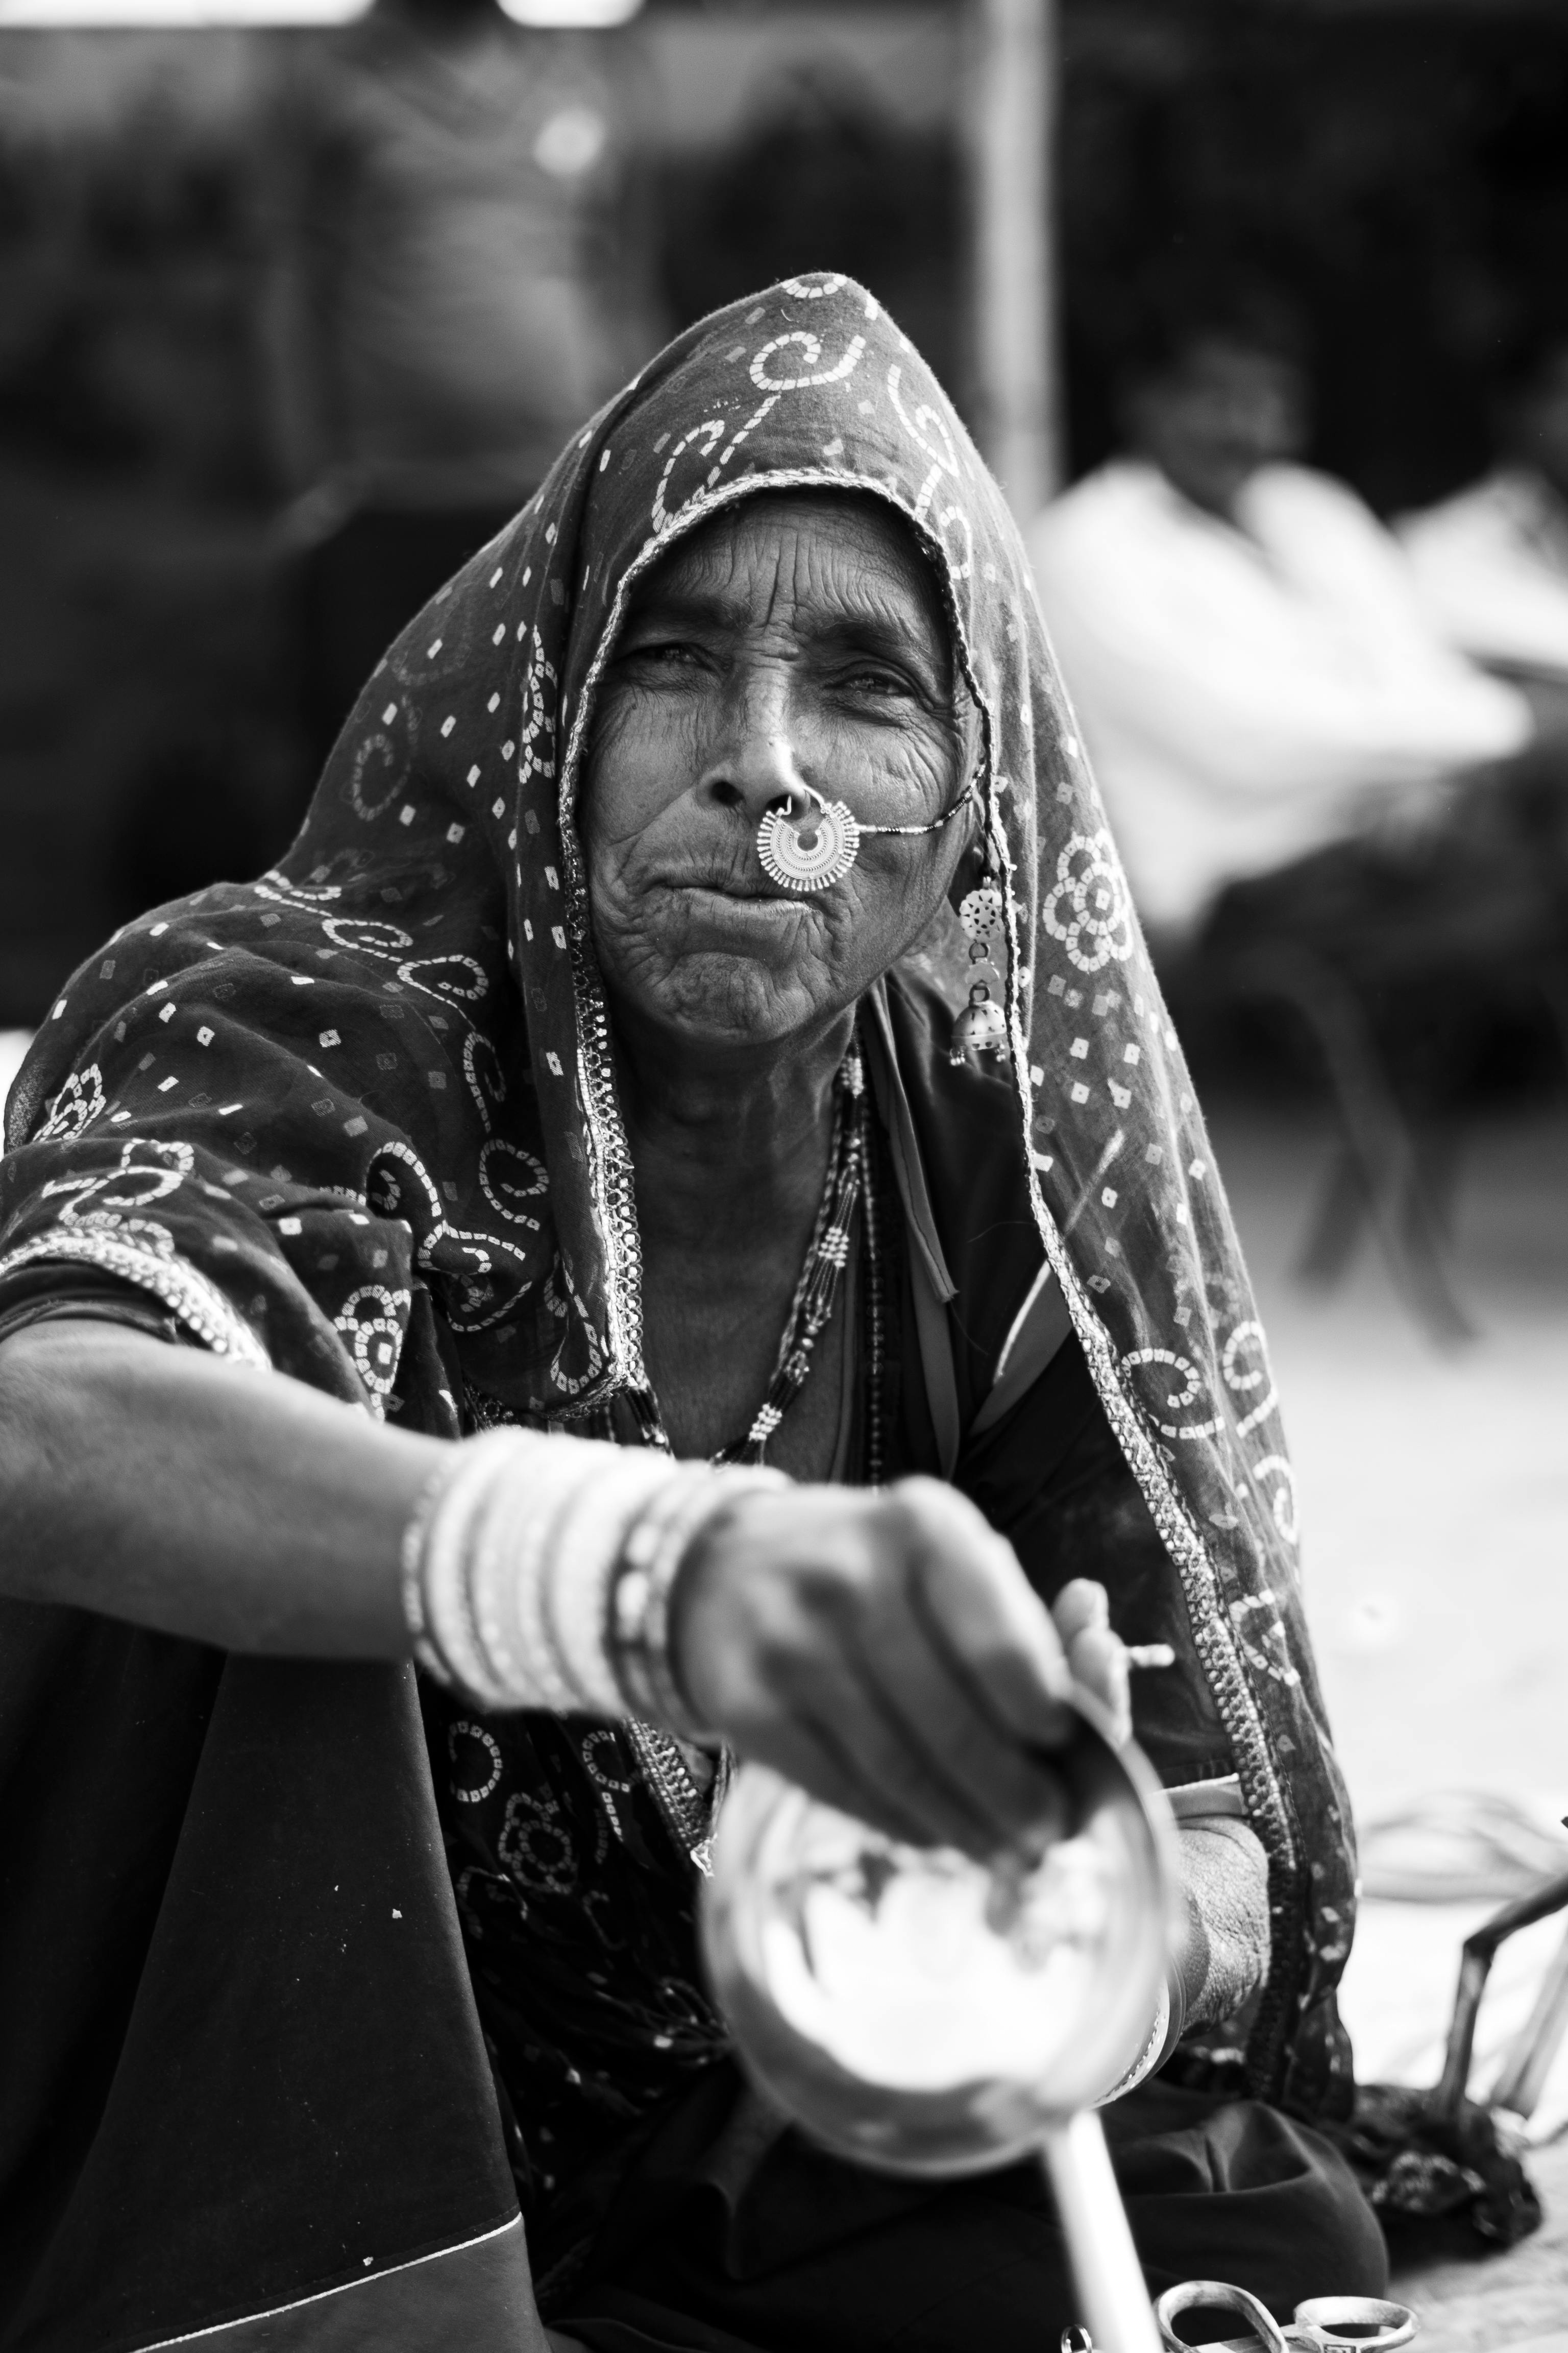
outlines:
[{"label": "woman's wrinkled face framed by patterned veil, without the nose ring", "polygon": [[795,776],[863,824],[926,824],[961,798],[966,722],[936,581],[875,499],[748,499],[637,588],[581,809],[623,1028],[710,1049],[799,1038],[926,929],[966,819],[863,838],[842,882],[797,894],[757,856]]}]

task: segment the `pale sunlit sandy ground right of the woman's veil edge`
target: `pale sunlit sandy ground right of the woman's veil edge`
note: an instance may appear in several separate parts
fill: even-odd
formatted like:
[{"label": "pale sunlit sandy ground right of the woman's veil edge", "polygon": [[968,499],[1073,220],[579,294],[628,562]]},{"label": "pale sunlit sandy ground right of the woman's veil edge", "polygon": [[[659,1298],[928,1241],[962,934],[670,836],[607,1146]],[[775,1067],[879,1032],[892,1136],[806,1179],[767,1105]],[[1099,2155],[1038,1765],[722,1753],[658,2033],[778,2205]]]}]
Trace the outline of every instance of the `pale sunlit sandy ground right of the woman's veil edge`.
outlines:
[{"label": "pale sunlit sandy ground right of the woman's veil edge", "polygon": [[[1467,1146],[1455,1278],[1481,1337],[1420,1337],[1371,1249],[1331,1294],[1291,1275],[1328,1139],[1215,1118],[1302,1485],[1305,1584],[1363,1824],[1436,1791],[1568,1812],[1568,1115]],[[1345,1979],[1363,2078],[1432,2082],[1460,1941],[1488,1904],[1366,1904]],[[1476,2038],[1486,2089],[1561,1939],[1507,1946]],[[1542,2231],[1408,2275],[1425,2353],[1568,2353],[1568,2054],[1535,2118]]]}]

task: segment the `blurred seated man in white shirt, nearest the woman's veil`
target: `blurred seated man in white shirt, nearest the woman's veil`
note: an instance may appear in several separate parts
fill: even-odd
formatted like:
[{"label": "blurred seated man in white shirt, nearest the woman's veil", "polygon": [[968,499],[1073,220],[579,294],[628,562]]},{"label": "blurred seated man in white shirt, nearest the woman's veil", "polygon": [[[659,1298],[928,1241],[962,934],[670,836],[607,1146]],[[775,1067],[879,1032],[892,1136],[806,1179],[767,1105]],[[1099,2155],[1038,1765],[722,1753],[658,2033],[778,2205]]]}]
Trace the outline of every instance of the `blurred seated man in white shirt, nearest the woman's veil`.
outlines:
[{"label": "blurred seated man in white shirt, nearest the woman's veil", "polygon": [[1039,515],[1030,555],[1140,913],[1178,948],[1232,885],[1429,824],[1533,720],[1436,635],[1361,499],[1295,464],[1286,351],[1192,325],[1128,376],[1121,421],[1128,454]]}]

